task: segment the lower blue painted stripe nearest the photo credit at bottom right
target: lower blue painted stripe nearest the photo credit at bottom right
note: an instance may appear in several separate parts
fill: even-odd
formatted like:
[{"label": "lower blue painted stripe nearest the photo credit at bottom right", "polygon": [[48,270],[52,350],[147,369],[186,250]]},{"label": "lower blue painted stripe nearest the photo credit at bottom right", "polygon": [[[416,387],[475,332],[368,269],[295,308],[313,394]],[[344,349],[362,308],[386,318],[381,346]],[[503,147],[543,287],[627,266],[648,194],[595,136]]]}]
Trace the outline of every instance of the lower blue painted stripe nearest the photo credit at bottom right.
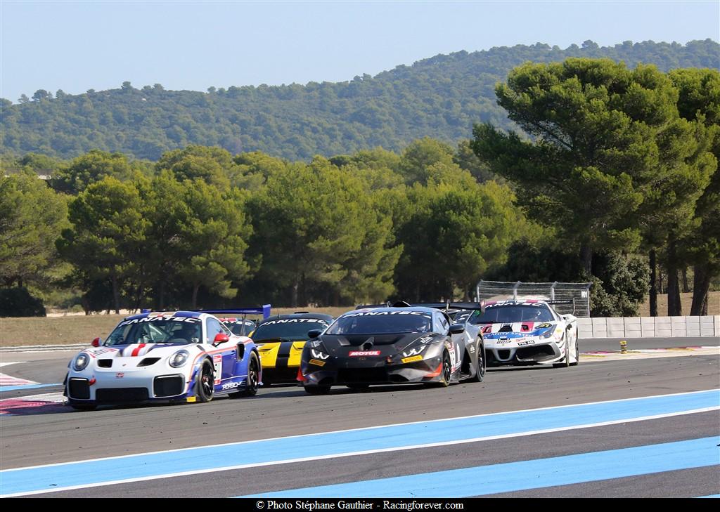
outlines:
[{"label": "lower blue painted stripe nearest the photo credit at bottom right", "polygon": [[651,444],[421,475],[289,489],[253,498],[467,498],[720,464],[719,439]]}]

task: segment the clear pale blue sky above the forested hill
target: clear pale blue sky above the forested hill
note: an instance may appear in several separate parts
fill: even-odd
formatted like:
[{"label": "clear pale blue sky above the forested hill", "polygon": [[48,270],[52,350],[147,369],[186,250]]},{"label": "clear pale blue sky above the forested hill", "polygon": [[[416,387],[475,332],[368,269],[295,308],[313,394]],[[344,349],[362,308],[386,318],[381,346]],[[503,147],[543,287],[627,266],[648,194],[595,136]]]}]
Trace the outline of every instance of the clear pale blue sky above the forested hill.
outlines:
[{"label": "clear pale blue sky above the forested hill", "polygon": [[438,53],[720,40],[710,1],[9,1],[0,96],[346,81]]}]

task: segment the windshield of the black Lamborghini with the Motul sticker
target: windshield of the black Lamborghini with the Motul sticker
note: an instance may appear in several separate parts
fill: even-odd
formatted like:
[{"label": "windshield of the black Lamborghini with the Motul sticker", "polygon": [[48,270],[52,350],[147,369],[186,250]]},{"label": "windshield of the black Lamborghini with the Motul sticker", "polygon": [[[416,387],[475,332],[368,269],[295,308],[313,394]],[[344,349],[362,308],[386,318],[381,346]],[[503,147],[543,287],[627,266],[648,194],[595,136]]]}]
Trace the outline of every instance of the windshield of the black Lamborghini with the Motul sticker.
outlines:
[{"label": "windshield of the black Lamborghini with the Motul sticker", "polygon": [[432,316],[423,311],[369,311],[341,316],[325,334],[400,334],[431,330]]}]

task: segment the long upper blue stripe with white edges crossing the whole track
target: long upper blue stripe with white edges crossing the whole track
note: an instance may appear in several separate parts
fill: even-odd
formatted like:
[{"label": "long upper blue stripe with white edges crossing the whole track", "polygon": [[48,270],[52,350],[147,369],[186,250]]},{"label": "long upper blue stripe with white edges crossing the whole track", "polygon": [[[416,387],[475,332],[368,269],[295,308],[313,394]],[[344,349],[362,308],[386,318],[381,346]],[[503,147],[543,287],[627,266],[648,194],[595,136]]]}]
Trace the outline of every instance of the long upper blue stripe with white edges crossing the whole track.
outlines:
[{"label": "long upper blue stripe with white edges crossing the whole track", "polygon": [[303,457],[337,457],[353,452],[448,444],[482,436],[525,435],[539,430],[572,429],[600,422],[632,421],[644,416],[719,407],[720,390],[706,390],[17,468],[0,472],[0,495],[148,480],[183,472],[259,466]]}]

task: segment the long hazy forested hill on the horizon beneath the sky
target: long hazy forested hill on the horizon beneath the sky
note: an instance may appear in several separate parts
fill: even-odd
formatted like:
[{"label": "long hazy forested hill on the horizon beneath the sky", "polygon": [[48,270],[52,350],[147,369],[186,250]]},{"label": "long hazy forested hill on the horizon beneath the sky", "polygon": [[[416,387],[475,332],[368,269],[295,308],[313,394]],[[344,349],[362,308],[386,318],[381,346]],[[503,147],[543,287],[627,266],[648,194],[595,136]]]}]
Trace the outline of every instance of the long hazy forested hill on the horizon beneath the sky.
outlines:
[{"label": "long hazy forested hill on the horizon beneath the sky", "polygon": [[1,149],[67,158],[99,148],[152,160],[191,143],[291,159],[377,146],[401,150],[418,137],[467,139],[477,122],[508,127],[495,103],[495,83],[528,60],[608,57],[629,67],[652,63],[667,71],[719,68],[719,55],[720,45],[709,39],[613,47],[586,41],[564,50],[537,44],[437,55],[341,83],[232,86],[206,93],[125,82],[118,89],[74,96],[41,89],[17,105],[1,100]]}]

